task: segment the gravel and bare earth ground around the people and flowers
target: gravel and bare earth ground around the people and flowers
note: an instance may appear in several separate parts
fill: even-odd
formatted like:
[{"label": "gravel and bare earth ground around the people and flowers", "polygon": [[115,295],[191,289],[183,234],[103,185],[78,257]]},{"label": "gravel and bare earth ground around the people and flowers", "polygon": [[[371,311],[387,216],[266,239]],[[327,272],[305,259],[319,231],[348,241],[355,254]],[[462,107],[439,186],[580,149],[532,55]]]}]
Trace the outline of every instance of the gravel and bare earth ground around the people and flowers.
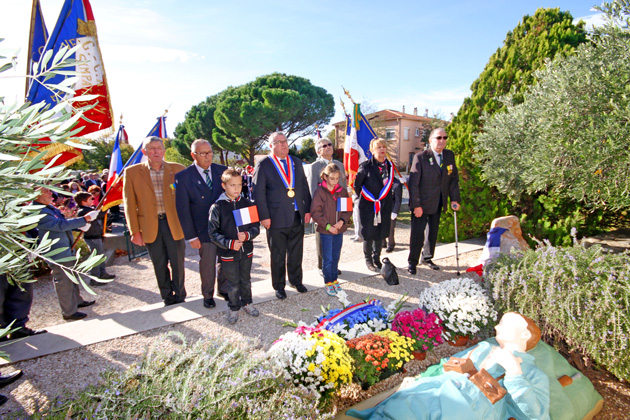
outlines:
[{"label": "gravel and bare earth ground around the people and flowers", "polygon": [[[350,240],[352,230],[344,236],[341,262],[362,260],[362,245]],[[409,246],[409,226],[399,225],[396,231],[396,251],[403,251]],[[270,281],[269,252],[266,245],[265,234],[262,233],[255,241],[254,265],[252,281]],[[385,255],[385,254],[383,254]],[[460,267],[465,268],[475,265],[480,251],[460,255]],[[409,294],[409,304],[417,303],[420,291],[433,282],[448,280],[455,277],[455,258],[436,260],[442,267],[440,271],[432,271],[419,266],[418,274],[410,276],[404,267],[399,267],[398,274],[400,285],[388,286],[380,276],[366,277],[361,280],[347,283],[343,286],[352,302],[359,302],[366,298],[381,299],[386,305],[403,293]],[[312,235],[305,238],[304,261],[305,270],[316,267],[317,258],[315,252],[315,240]],[[188,295],[200,294],[200,282],[197,274],[198,257],[196,251],[188,248],[186,253],[186,285]],[[116,274],[117,278],[111,284],[96,289],[98,295],[96,305],[87,308],[90,316],[106,315],[123,309],[141,307],[146,304],[161,301],[157,292],[157,285],[153,275],[153,269],[148,257],[129,262],[127,257],[118,257],[109,272]],[[82,292],[84,298],[88,298],[86,292]],[[254,297],[256,304],[256,297]],[[331,304],[338,307],[336,299],[326,295],[323,288],[309,291],[306,294],[289,296],[285,300],[271,300],[256,304],[261,312],[258,318],[241,314],[239,321],[229,325],[225,313],[216,313],[207,317],[158,328],[132,336],[98,343],[75,350],[69,350],[38,359],[10,365],[3,372],[11,369],[22,369],[25,372],[23,379],[2,389],[2,393],[10,397],[9,402],[0,408],[0,417],[8,413],[16,413],[24,410],[28,414],[38,412],[40,407],[49,403],[52,398],[74,392],[84,388],[88,384],[97,383],[99,374],[106,369],[125,369],[130,364],[137,362],[156,340],[164,333],[178,331],[189,342],[200,338],[233,338],[258,339],[263,348],[268,348],[281,334],[290,331],[283,327],[285,321],[297,322],[303,320],[310,323],[320,313],[320,305]],[[45,328],[63,322],[54,289],[49,278],[41,278],[35,285],[35,300],[31,311],[31,328]],[[337,399],[339,408],[350,406],[362,399],[374,395],[400,383],[404,376],[414,375],[423,371],[432,363],[459,351],[443,345],[429,354],[423,362],[410,362],[407,365],[408,372],[404,375],[397,374],[375,385],[366,392],[360,392],[358,387],[347,387]],[[626,418],[630,412],[630,388],[621,384],[610,375],[599,371],[589,375],[595,382],[595,386],[604,395],[607,405],[597,419]],[[587,372],[588,374],[588,372]],[[616,409],[618,408],[618,409]]]}]

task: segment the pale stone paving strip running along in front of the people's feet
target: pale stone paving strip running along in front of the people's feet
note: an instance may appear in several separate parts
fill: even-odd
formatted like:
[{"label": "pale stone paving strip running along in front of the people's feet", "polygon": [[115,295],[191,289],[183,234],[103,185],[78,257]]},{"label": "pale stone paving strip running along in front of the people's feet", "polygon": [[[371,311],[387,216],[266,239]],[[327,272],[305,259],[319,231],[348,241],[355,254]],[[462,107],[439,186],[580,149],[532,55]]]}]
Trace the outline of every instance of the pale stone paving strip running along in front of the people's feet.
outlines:
[{"label": "pale stone paving strip running along in front of the people's feet", "polygon": [[[482,248],[483,243],[477,239],[460,242],[458,251],[460,254],[464,254]],[[455,244],[438,245],[435,254],[434,259],[436,261],[451,257],[455,255]],[[406,269],[407,255],[407,250],[383,254],[398,267],[398,270]],[[460,267],[460,271],[463,272],[465,268]],[[362,255],[354,262],[340,264],[339,269],[343,273],[339,277],[341,283],[375,275],[365,266]],[[422,269],[421,266],[418,269]],[[309,290],[324,286],[323,279],[317,270],[304,272],[304,284]],[[290,287],[286,288],[286,292],[287,295],[297,294]],[[270,280],[253,282],[252,294],[254,302],[257,304],[276,298]],[[1,344],[0,350],[9,355],[11,362],[0,358],[0,366],[113,340],[228,310],[227,303],[223,299],[215,299],[215,302],[217,304],[215,308],[207,309],[203,307],[202,296],[193,295],[187,297],[184,303],[168,307],[163,306],[162,303],[156,303],[123,312],[47,327],[48,333],[46,334]]]}]

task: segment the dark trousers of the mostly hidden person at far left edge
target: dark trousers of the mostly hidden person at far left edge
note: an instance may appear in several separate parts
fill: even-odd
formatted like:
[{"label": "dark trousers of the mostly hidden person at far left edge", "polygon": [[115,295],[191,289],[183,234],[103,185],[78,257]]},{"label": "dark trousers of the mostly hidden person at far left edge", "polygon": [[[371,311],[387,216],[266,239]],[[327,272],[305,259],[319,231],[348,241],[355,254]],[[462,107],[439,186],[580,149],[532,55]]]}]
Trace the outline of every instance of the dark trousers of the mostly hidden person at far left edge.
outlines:
[{"label": "dark trousers of the mostly hidden person at far left edge", "polygon": [[33,304],[33,283],[22,283],[22,288],[9,284],[7,276],[0,275],[0,328],[13,321],[12,328],[26,326]]}]

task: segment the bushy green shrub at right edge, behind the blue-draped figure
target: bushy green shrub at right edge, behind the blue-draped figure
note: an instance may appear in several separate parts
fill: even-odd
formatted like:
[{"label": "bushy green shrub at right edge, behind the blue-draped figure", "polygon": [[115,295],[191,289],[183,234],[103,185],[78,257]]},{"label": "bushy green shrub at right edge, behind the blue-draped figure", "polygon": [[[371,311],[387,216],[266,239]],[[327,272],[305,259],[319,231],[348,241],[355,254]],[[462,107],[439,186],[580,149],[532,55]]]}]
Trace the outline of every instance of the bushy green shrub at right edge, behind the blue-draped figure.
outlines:
[{"label": "bushy green shrub at right edge, behind the blue-draped figure", "polygon": [[562,340],[622,380],[630,379],[630,254],[599,245],[554,247],[500,257],[485,278],[497,306],[538,323],[543,334]]}]

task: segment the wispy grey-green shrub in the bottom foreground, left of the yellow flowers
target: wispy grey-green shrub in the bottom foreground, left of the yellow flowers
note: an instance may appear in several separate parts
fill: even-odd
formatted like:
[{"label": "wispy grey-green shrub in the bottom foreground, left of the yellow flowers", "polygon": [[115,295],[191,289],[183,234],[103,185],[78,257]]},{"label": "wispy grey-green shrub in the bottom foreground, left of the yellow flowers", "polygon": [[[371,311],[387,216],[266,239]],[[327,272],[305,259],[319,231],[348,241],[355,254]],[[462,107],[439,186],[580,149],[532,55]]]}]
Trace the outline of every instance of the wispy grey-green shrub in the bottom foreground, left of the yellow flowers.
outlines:
[{"label": "wispy grey-green shrub in the bottom foreground, left of the yellow flowers", "polygon": [[[163,350],[169,336],[181,346]],[[162,337],[142,362],[108,371],[104,383],[60,399],[47,419],[328,419],[318,397],[287,384],[263,352],[227,341],[188,346]]]}]

